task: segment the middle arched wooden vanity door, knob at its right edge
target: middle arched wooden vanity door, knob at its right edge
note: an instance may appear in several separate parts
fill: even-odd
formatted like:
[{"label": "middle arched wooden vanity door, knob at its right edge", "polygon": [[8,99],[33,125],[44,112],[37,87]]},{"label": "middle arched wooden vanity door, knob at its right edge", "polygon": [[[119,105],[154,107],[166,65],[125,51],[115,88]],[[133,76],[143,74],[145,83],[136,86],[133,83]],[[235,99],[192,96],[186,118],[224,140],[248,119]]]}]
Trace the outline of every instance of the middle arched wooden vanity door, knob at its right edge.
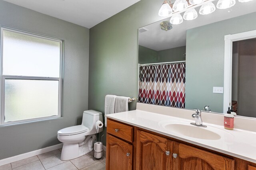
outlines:
[{"label": "middle arched wooden vanity door, knob at its right edge", "polygon": [[172,141],[137,131],[136,170],[171,170]]}]

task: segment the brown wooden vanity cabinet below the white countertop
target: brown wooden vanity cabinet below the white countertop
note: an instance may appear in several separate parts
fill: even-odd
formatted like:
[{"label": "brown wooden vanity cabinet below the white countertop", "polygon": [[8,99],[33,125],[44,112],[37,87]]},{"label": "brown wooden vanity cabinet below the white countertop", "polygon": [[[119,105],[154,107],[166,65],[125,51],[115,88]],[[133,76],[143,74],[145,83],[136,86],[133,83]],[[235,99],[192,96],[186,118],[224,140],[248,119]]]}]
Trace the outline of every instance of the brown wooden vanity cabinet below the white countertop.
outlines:
[{"label": "brown wooden vanity cabinet below the white countertop", "polygon": [[256,170],[252,162],[112,119],[106,147],[106,170]]}]

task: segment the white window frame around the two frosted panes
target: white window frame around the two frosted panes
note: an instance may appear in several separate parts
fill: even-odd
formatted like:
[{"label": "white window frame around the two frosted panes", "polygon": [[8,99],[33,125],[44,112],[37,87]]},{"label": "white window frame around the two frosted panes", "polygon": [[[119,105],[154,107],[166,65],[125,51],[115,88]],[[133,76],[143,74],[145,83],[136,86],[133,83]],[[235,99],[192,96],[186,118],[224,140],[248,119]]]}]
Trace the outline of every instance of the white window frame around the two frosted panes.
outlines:
[{"label": "white window frame around the two frosted panes", "polygon": [[[42,39],[48,39],[52,41],[57,41],[60,43],[60,76],[59,77],[38,77],[38,76],[12,76],[12,75],[3,75],[3,31],[11,31],[14,33],[20,33],[24,35],[29,35],[33,37],[38,37]],[[62,113],[62,76],[63,76],[63,40],[56,39],[53,37],[47,37],[44,35],[39,35],[36,33],[30,33],[27,31],[21,31],[18,29],[12,29],[8,27],[1,27],[1,47],[0,47],[0,126],[2,125],[13,125],[13,124],[20,124],[26,122],[34,122],[34,121],[42,121],[48,119],[55,119],[61,117]],[[58,115],[53,116],[46,116],[46,117],[39,117],[34,119],[24,119],[19,121],[10,121],[4,122],[4,102],[5,102],[5,80],[12,79],[12,80],[58,80]]]}]

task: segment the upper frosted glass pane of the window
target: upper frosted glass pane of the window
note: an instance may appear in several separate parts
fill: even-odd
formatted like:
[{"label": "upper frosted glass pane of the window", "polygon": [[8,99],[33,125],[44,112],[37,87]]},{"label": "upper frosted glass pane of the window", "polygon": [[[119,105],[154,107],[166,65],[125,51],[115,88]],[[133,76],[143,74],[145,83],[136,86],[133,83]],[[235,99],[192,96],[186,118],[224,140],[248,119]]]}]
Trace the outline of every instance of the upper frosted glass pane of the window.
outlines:
[{"label": "upper frosted glass pane of the window", "polygon": [[61,43],[3,30],[3,75],[60,77]]}]

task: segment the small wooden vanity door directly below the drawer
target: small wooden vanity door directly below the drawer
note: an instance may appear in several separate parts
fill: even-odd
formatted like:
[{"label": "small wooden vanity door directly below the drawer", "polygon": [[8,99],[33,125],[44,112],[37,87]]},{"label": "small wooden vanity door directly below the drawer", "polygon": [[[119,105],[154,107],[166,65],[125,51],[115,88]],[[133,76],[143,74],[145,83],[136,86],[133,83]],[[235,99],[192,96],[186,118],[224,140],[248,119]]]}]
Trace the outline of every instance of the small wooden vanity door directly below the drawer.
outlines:
[{"label": "small wooden vanity door directly below the drawer", "polygon": [[132,145],[107,134],[106,170],[132,170]]}]

